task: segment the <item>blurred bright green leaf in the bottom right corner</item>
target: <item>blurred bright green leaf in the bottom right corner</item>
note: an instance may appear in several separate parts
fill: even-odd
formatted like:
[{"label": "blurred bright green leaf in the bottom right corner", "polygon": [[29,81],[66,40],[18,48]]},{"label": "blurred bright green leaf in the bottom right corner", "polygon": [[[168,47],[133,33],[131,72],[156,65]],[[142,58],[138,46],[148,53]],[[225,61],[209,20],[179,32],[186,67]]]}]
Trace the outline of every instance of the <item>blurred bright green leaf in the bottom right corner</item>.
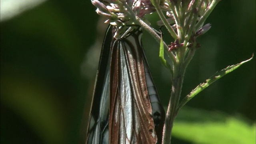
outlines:
[{"label": "blurred bright green leaf in the bottom right corner", "polygon": [[222,112],[182,108],[172,136],[193,144],[255,144],[255,122]]}]

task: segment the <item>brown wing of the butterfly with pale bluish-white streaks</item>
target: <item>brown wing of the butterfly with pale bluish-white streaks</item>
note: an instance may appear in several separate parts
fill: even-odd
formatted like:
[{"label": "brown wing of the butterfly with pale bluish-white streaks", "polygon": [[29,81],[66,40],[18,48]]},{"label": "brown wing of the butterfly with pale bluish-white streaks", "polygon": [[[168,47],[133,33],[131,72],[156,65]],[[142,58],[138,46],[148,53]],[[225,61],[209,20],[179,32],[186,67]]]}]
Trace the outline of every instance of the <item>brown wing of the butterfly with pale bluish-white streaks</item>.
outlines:
[{"label": "brown wing of the butterfly with pale bluish-white streaks", "polygon": [[152,106],[137,31],[112,44],[110,64],[110,143],[155,144]]}]

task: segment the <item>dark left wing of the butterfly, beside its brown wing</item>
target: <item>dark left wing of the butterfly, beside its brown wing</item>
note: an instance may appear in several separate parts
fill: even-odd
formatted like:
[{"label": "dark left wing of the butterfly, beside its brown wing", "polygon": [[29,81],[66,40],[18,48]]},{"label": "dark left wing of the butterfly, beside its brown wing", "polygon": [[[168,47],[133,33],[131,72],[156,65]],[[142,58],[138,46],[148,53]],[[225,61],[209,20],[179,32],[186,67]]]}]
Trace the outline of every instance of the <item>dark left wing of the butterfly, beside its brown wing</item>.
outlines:
[{"label": "dark left wing of the butterfly, beside its brown wing", "polygon": [[110,102],[110,46],[113,38],[112,27],[110,25],[108,26],[100,54],[87,130],[87,144],[109,143],[108,118]]}]

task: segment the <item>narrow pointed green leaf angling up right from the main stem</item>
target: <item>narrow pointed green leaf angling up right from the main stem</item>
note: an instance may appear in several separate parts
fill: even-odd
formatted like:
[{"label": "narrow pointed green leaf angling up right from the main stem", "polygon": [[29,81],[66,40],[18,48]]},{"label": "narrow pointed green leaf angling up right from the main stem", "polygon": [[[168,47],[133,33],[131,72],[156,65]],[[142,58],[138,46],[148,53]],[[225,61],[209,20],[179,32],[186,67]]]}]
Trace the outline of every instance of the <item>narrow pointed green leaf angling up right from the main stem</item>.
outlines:
[{"label": "narrow pointed green leaf angling up right from the main stem", "polygon": [[242,64],[250,61],[252,58],[253,58],[253,55],[248,60],[242,61],[242,62],[240,62],[238,64],[234,64],[234,65],[228,66],[228,67],[224,68],[223,70],[220,70],[220,71],[216,72],[213,76],[211,76],[209,79],[207,79],[206,82],[204,82],[202,84],[199,84],[196,88],[194,88],[194,90],[192,90],[190,92],[190,94],[188,94],[185,98],[183,98],[182,102],[180,102],[180,104],[178,106],[178,110],[180,110],[180,108],[182,108],[182,106],[184,106],[189,100],[191,100],[199,92],[201,92],[202,90],[204,90],[205,88],[210,86],[210,84],[216,82],[216,80],[218,80],[221,77],[225,76],[226,74],[232,72],[233,70],[235,70],[236,68],[238,68]]}]

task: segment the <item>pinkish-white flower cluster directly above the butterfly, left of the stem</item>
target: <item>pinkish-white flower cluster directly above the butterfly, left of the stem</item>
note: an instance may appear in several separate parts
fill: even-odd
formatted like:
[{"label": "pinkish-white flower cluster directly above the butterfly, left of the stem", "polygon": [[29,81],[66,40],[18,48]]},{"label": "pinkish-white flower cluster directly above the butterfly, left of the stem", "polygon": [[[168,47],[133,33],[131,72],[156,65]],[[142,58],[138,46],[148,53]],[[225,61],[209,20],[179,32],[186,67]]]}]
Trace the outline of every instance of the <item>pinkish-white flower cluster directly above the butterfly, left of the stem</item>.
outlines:
[{"label": "pinkish-white flower cluster directly above the butterfly, left of the stem", "polygon": [[154,12],[150,0],[91,0],[96,6],[96,12],[108,18],[105,23],[113,26],[129,24],[132,17],[142,18],[145,14]]}]

